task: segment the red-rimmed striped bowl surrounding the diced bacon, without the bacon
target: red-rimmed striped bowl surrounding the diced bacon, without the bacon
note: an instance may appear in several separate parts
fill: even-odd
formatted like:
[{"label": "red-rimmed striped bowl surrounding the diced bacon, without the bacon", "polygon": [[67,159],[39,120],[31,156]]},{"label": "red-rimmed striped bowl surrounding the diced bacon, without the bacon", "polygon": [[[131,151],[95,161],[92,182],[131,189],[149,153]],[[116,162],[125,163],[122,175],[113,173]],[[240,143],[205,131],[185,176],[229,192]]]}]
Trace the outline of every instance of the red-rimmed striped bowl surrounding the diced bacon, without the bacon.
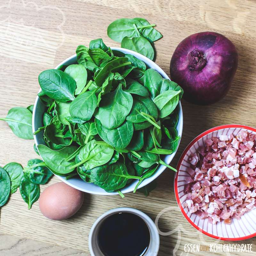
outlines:
[{"label": "red-rimmed striped bowl surrounding the diced bacon, without the bacon", "polygon": [[177,166],[178,172],[176,173],[174,180],[176,200],[180,207],[180,211],[188,222],[203,234],[220,240],[238,241],[256,236],[256,208],[246,212],[240,220],[232,219],[230,225],[224,224],[223,221],[212,224],[208,222],[208,219],[200,220],[195,213],[191,214],[188,211],[188,208],[184,207],[186,196],[183,192],[184,186],[187,184],[185,181],[186,177],[189,175],[186,171],[190,166],[188,157],[192,153],[195,153],[198,147],[204,146],[204,141],[206,139],[218,137],[220,135],[229,135],[231,133],[236,136],[237,133],[242,130],[249,133],[256,133],[256,129],[246,125],[228,124],[212,128],[198,135],[181,155]]}]

